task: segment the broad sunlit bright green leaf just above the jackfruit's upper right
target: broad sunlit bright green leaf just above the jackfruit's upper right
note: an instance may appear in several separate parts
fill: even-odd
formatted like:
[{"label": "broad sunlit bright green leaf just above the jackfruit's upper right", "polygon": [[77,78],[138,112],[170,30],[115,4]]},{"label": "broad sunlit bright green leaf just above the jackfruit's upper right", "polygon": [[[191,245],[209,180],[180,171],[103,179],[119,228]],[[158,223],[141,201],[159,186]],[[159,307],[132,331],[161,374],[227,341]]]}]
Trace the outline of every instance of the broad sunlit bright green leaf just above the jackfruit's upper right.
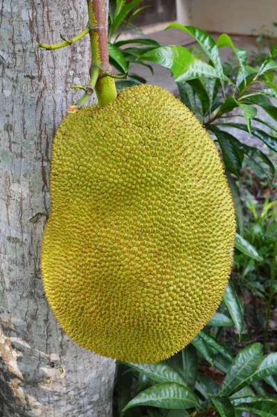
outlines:
[{"label": "broad sunlit bright green leaf just above the jackfruit's upper right", "polygon": [[224,81],[231,81],[223,74],[215,70],[214,67],[204,63],[201,59],[196,58],[185,47],[172,45],[169,47],[161,47],[152,49],[140,56],[141,59],[150,60],[153,63],[168,68],[174,75],[177,82],[183,82],[198,79],[200,76],[219,78]]}]

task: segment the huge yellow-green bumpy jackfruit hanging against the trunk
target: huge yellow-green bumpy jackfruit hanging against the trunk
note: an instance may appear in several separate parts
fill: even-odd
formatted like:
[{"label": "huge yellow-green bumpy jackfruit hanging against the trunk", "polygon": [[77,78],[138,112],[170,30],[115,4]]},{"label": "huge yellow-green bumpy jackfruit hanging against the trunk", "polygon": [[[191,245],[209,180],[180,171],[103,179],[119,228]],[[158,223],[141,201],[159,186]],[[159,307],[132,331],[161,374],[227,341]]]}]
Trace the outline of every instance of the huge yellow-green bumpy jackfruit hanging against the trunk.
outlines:
[{"label": "huge yellow-green bumpy jackfruit hanging against the trunk", "polygon": [[235,215],[217,149],[156,85],[68,115],[53,143],[44,288],[74,341],[156,362],[215,313],[233,261]]}]

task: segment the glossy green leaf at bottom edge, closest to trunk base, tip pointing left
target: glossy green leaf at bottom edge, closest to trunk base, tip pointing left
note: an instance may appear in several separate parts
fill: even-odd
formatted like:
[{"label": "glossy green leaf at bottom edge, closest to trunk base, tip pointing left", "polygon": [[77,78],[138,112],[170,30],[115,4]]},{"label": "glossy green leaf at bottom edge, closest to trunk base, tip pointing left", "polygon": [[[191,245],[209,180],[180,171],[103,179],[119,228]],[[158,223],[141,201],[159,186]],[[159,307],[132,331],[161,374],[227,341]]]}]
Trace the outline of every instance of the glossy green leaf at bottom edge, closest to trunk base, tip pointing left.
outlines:
[{"label": "glossy green leaf at bottom edge, closest to trunk base, tip pointing left", "polygon": [[128,402],[123,411],[136,405],[150,405],[166,409],[189,409],[199,406],[196,395],[183,385],[174,382],[156,384]]}]

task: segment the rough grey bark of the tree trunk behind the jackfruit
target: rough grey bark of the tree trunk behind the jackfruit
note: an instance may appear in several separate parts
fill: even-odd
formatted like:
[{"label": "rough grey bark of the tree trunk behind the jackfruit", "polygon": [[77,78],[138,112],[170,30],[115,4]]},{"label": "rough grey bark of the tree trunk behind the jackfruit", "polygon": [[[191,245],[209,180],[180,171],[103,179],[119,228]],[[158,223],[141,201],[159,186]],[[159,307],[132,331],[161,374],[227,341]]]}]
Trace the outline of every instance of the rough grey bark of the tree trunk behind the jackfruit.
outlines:
[{"label": "rough grey bark of the tree trunk behind the jackfruit", "polygon": [[[49,215],[51,142],[74,83],[87,83],[85,0],[0,0],[0,416],[110,417],[114,361],[76,345],[44,297],[40,245]],[[74,99],[75,95],[75,99]]]}]

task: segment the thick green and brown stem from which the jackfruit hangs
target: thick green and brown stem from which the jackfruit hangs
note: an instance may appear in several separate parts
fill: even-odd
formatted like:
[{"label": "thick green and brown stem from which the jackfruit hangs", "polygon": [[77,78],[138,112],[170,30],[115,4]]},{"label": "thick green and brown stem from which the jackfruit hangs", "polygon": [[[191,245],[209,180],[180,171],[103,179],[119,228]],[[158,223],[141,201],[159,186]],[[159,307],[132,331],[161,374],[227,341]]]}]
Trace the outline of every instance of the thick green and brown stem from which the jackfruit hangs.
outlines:
[{"label": "thick green and brown stem from which the jackfruit hangs", "polygon": [[[90,82],[92,87],[95,86],[99,107],[106,106],[110,101],[117,98],[117,89],[115,88],[115,80],[105,73],[112,74],[112,67],[109,63],[108,54],[108,38],[106,31],[106,6],[105,0],[87,0],[88,24],[90,29],[90,49],[92,53],[91,72],[96,73],[99,70],[96,83]],[[93,81],[95,81],[95,76]],[[81,106],[85,104],[88,97],[82,97]],[[80,101],[78,106],[80,106]]]}]

